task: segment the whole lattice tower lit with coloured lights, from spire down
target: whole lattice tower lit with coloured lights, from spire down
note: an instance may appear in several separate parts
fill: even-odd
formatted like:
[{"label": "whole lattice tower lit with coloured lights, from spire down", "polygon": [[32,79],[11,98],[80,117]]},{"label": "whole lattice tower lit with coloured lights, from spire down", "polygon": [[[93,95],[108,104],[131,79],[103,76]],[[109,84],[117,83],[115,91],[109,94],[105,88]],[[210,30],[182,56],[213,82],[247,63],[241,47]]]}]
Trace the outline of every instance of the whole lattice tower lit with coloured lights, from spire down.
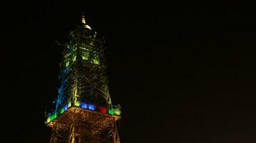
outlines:
[{"label": "whole lattice tower lit with coloured lights, from spire down", "polygon": [[104,49],[104,39],[82,16],[63,51],[56,107],[46,121],[50,143],[120,143],[120,106],[110,99]]}]

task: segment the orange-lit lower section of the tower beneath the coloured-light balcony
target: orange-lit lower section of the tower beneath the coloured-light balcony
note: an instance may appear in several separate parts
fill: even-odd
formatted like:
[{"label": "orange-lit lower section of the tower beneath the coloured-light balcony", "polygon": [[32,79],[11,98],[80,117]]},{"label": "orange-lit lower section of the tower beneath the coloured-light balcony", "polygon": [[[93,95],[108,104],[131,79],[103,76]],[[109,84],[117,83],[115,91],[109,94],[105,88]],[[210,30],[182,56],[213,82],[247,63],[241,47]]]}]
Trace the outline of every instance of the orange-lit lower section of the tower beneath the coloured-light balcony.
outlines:
[{"label": "orange-lit lower section of the tower beneath the coloured-light balcony", "polygon": [[71,107],[47,124],[52,127],[50,143],[120,143],[112,114]]}]

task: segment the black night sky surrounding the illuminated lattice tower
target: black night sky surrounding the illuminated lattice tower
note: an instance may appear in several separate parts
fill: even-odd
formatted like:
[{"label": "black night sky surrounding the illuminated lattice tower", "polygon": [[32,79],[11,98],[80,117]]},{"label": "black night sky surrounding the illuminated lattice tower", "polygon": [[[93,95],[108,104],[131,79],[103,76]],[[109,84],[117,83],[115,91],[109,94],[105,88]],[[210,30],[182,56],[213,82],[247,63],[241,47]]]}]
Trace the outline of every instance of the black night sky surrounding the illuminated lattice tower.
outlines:
[{"label": "black night sky surrounding the illuminated lattice tower", "polygon": [[256,13],[242,1],[10,1],[1,5],[1,131],[49,142],[67,35],[107,39],[122,143],[256,142]]}]

